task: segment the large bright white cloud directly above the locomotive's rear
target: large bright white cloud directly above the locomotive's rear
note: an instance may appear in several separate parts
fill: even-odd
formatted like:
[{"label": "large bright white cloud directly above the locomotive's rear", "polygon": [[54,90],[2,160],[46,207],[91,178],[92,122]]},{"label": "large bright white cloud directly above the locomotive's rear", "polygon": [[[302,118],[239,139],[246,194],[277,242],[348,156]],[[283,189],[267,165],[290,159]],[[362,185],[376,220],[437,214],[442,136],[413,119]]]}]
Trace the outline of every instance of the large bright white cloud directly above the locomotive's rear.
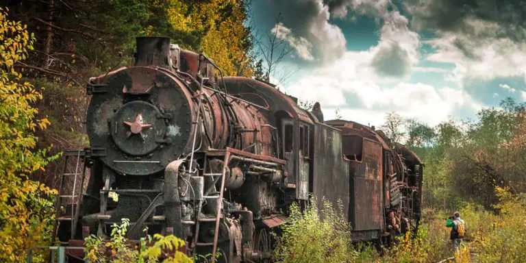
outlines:
[{"label": "large bright white cloud directly above the locomotive's rear", "polygon": [[[357,5],[368,2],[354,1]],[[343,118],[371,125],[381,125],[386,112],[392,111],[436,125],[460,108],[482,108],[463,90],[408,83],[412,71],[447,71],[416,66],[421,42],[409,29],[408,19],[380,4],[371,6],[384,21],[376,46],[346,51],[334,63],[303,76],[285,91],[300,99],[319,101],[326,119],[334,118],[339,108]],[[462,73],[462,68],[455,70]]]}]

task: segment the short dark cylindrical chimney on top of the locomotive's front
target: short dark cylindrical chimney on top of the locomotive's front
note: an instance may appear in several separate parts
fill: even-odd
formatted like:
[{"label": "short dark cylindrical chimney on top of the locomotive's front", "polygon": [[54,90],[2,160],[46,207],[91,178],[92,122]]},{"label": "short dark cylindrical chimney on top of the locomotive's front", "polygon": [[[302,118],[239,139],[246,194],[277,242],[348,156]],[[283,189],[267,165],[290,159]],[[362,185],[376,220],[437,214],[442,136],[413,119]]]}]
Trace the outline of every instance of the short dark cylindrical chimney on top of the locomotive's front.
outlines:
[{"label": "short dark cylindrical chimney on top of the locomotive's front", "polygon": [[170,38],[138,37],[136,66],[170,66]]}]

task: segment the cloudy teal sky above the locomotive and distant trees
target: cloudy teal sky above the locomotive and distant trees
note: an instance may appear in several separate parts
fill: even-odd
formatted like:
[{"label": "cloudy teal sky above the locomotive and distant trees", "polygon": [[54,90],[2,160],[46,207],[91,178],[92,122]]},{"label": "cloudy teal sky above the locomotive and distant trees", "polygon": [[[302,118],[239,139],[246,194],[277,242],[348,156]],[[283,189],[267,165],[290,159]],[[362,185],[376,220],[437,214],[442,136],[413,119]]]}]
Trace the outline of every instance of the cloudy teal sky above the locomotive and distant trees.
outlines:
[{"label": "cloudy teal sky above the locomotive and distant trees", "polygon": [[[397,112],[436,125],[526,101],[526,2],[253,0],[255,32],[273,32],[299,68],[282,90],[335,116],[381,125]],[[276,17],[282,20],[276,26]],[[273,76],[275,79],[279,76]]]}]

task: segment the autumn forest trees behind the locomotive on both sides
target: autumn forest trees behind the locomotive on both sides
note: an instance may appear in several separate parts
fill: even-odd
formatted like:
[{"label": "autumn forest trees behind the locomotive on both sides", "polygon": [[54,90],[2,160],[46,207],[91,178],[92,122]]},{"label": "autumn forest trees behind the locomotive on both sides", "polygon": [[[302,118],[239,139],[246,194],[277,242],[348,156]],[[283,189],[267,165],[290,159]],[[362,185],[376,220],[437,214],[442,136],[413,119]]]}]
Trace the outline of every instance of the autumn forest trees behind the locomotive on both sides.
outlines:
[{"label": "autumn forest trees behind the locomotive on both sides", "polygon": [[[265,81],[290,52],[271,32],[253,32],[248,0],[0,3],[0,258],[14,262],[49,240],[47,197],[64,165],[60,153],[88,145],[88,78],[132,65],[136,36],[168,36],[208,55],[225,75]],[[381,129],[425,162],[427,210],[499,212],[495,187],[526,191],[525,109],[505,99],[475,120],[436,127],[392,112]]]}]

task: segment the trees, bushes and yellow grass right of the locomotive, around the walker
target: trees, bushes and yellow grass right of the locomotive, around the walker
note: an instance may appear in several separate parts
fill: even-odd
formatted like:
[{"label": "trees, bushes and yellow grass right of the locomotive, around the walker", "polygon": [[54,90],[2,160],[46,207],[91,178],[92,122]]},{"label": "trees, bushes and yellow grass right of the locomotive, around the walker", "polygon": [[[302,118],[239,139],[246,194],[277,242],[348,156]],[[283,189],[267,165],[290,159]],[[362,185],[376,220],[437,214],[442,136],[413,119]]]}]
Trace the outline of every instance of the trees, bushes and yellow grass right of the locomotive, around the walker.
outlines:
[{"label": "trees, bushes and yellow grass right of the locomotive, around the walker", "polygon": [[[500,108],[481,110],[478,117],[477,121],[449,120],[429,127],[396,113],[386,116],[381,127],[384,133],[392,142],[408,145],[425,162],[424,221],[414,238],[403,236],[383,257],[371,246],[359,247],[347,251],[348,258],[338,258],[341,262],[439,262],[445,258],[468,262],[470,248],[478,253],[480,262],[523,262],[526,105],[505,99]],[[471,241],[464,242],[456,254],[449,240],[451,229],[445,227],[455,210],[466,221],[466,240]],[[303,213],[297,207],[292,210],[294,219],[286,225],[289,241],[278,245],[281,262],[338,257],[336,252],[323,255],[329,249],[320,238],[338,228],[334,225],[338,221],[321,221],[317,212],[315,206]],[[349,244],[342,247],[349,248]]]}]

